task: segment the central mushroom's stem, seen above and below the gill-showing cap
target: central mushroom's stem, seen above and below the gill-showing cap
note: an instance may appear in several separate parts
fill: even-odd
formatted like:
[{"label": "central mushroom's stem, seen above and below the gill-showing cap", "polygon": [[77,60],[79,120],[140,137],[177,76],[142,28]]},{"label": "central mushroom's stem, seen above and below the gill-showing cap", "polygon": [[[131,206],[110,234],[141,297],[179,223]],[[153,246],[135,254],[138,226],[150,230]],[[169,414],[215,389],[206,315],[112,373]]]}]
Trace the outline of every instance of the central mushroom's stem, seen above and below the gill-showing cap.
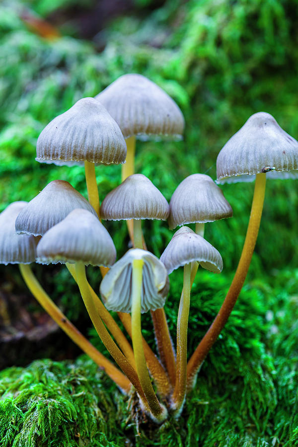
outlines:
[{"label": "central mushroom's stem, seen above and below the gill-showing cap", "polygon": [[[142,220],[133,221],[134,225],[134,246],[135,248],[143,248],[142,239]],[[163,308],[151,310],[151,318],[156,337],[157,349],[160,356],[161,363],[166,368],[167,374],[172,386],[175,385],[176,378],[176,358],[168,329],[166,316]]]}]

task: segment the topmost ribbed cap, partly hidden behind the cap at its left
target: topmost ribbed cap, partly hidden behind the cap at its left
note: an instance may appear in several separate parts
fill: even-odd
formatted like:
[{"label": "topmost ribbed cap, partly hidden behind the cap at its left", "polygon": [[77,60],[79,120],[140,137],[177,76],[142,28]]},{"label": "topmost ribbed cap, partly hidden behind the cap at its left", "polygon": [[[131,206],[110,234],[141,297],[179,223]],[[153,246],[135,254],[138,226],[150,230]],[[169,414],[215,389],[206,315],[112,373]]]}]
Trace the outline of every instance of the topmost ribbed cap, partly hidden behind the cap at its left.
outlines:
[{"label": "topmost ribbed cap, partly hidden behind the cap at its left", "polygon": [[120,76],[95,99],[106,107],[125,138],[182,138],[181,110],[167,93],[141,74]]}]

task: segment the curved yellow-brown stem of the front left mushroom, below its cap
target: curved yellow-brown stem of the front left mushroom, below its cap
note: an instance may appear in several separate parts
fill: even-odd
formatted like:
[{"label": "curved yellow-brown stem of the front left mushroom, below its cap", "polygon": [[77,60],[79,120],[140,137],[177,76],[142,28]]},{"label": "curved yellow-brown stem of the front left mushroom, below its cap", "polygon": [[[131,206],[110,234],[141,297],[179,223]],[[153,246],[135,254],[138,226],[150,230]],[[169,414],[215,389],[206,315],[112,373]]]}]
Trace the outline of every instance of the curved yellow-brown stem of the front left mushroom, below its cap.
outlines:
[{"label": "curved yellow-brown stem of the front left mushroom, below its cap", "polygon": [[143,392],[140,380],[138,378],[138,375],[132,365],[129,363],[129,361],[125,358],[125,356],[122,354],[116,343],[111,338],[110,334],[108,333],[105,325],[102,322],[102,319],[99,316],[99,313],[94,305],[93,299],[90,294],[87,278],[86,278],[86,272],[85,272],[85,266],[82,262],[76,262],[75,263],[75,275],[77,280],[77,285],[81,294],[81,297],[83,298],[84,304],[86,306],[86,309],[88,311],[88,314],[91,318],[91,321],[93,323],[93,326],[96,329],[97,334],[99,335],[102,343],[107,348],[111,356],[114,358],[118,366],[121,368],[123,373],[129,378],[129,380],[132,382],[134,387],[136,388],[137,392],[140,395],[140,398],[144,404],[144,407],[148,410],[149,405],[146,400],[145,394]]}]

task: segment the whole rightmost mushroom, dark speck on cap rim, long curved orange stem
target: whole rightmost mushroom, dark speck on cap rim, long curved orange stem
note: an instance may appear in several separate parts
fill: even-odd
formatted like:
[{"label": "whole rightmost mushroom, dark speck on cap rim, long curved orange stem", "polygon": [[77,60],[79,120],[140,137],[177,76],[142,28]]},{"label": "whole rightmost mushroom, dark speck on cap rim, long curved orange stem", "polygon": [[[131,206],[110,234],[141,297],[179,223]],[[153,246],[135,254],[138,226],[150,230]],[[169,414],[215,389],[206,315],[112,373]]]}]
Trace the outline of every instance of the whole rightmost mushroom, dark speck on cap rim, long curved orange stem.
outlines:
[{"label": "whole rightmost mushroom, dark speck on cap rim, long curved orange stem", "polygon": [[240,260],[224,303],[187,366],[188,387],[223,329],[239,296],[254,251],[265,197],[266,178],[298,177],[298,142],[269,113],[252,115],[217,158],[217,183],[255,180],[250,218]]}]

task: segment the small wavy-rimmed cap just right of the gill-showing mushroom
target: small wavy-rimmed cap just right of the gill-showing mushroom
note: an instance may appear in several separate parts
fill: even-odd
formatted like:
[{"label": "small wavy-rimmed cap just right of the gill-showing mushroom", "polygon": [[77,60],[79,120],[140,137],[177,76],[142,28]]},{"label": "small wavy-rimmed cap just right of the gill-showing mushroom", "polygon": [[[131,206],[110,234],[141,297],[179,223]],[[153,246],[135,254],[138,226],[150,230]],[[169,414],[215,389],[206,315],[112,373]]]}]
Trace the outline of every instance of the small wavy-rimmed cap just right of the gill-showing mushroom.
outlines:
[{"label": "small wavy-rimmed cap just right of the gill-showing mushroom", "polygon": [[175,232],[160,256],[160,261],[165,265],[168,275],[193,261],[213,273],[221,273],[223,270],[220,252],[188,226],[182,226]]}]

